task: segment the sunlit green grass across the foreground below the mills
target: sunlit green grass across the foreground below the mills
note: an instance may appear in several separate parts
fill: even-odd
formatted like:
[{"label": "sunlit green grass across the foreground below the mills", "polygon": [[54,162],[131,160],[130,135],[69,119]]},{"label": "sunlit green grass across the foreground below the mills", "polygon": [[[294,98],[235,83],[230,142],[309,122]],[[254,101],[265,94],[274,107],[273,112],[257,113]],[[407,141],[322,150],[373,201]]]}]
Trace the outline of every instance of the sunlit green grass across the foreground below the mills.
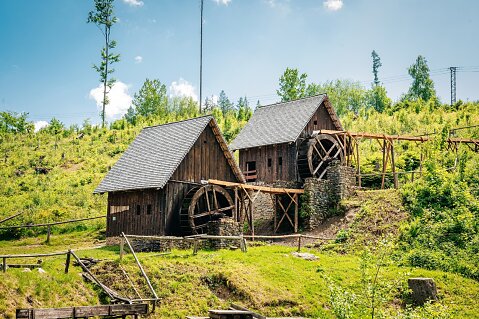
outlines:
[{"label": "sunlit green grass across the foreground below the mills", "polygon": [[[88,249],[98,232],[81,236],[57,235],[46,246],[41,239],[0,242],[0,253],[45,252],[76,247],[78,255],[100,258],[103,262],[94,268],[102,281],[122,294],[133,296],[133,290],[119,270],[117,247]],[[264,245],[250,247],[248,252],[220,250],[173,250],[171,254],[139,253],[161,302],[151,318],[184,318],[186,315],[205,315],[208,309],[228,307],[235,302],[268,316],[305,316],[334,318],[330,286],[361,297],[360,263],[357,255],[309,250],[317,261],[294,257],[294,248]],[[103,297],[90,284],[83,282],[78,267],[63,274],[64,257],[44,260],[46,273],[22,272],[9,269],[0,274],[0,317],[13,318],[16,307],[55,307],[97,304]],[[143,296],[148,290],[133,257],[128,254],[121,262]],[[479,284],[471,279],[441,271],[397,267],[392,264],[380,271],[380,283],[387,287],[382,310],[385,315],[397,317],[403,312],[402,300],[409,277],[431,277],[437,283],[440,300],[430,307],[441,307],[441,312],[452,318],[479,318],[476,301]],[[367,308],[359,305],[353,318],[368,317]]]}]

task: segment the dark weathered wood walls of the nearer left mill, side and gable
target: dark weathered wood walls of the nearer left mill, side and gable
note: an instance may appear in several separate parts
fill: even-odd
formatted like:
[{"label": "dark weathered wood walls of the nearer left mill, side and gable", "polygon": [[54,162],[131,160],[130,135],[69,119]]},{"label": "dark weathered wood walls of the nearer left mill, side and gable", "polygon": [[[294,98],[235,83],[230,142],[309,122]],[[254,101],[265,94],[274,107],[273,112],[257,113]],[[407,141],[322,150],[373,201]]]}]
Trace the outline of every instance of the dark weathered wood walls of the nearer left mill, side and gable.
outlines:
[{"label": "dark weathered wood walls of the nearer left mill, side and gable", "polygon": [[[180,234],[179,211],[183,198],[201,180],[207,179],[238,182],[210,126],[201,133],[163,189],[108,194],[107,236],[119,236],[121,232]],[[148,205],[151,205],[150,214]]]}]

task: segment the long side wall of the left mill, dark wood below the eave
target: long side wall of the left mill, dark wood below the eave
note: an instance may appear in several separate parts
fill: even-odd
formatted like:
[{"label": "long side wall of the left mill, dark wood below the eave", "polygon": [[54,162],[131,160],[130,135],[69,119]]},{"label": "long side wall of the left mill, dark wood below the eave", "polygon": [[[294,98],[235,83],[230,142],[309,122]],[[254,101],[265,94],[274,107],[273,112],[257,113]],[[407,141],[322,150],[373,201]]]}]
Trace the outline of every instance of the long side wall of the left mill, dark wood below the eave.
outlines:
[{"label": "long side wall of the left mill, dark wood below the eave", "polygon": [[[163,190],[139,190],[108,193],[107,237],[163,235]],[[139,210],[138,210],[139,208]]]}]

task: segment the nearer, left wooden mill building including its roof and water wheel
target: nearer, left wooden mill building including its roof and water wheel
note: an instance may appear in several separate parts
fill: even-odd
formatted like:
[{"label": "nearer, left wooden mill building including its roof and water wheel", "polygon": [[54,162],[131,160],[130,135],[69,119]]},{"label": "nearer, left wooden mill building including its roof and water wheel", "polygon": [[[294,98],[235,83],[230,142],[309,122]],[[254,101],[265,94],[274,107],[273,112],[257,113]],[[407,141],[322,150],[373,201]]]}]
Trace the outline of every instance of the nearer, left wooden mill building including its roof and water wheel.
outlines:
[{"label": "nearer, left wooden mill building including its roof and water wheel", "polygon": [[208,179],[244,182],[212,116],[144,128],[95,193],[108,193],[107,236],[184,235],[232,216],[232,196]]}]

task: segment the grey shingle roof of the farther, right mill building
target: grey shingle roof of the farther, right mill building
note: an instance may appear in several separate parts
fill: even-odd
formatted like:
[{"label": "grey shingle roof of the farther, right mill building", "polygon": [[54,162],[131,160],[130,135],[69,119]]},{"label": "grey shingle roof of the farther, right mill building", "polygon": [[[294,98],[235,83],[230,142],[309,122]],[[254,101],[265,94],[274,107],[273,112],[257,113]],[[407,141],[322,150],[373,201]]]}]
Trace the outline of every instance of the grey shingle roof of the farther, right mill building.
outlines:
[{"label": "grey shingle roof of the farther, right mill building", "polygon": [[336,128],[342,130],[328,96],[321,94],[256,109],[248,124],[230,144],[230,149],[239,150],[296,141],[323,102]]}]

